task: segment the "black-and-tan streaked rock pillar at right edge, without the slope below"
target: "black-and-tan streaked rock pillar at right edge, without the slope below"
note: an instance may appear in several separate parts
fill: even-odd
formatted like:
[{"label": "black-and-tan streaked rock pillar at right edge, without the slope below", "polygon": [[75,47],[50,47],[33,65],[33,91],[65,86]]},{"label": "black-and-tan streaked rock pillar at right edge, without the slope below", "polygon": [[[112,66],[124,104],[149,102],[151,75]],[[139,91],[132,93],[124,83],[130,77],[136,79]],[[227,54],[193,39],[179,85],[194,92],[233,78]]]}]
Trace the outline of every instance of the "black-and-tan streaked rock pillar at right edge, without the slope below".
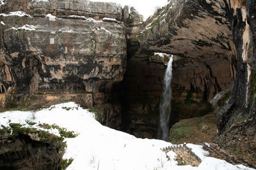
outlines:
[{"label": "black-and-tan streaked rock pillar at right edge, without the slope below", "polygon": [[[226,3],[237,54],[237,76],[228,101],[218,112],[220,132],[239,117],[255,118],[253,60],[255,59],[255,3],[250,1],[230,1]],[[236,113],[234,113],[236,112]]]}]

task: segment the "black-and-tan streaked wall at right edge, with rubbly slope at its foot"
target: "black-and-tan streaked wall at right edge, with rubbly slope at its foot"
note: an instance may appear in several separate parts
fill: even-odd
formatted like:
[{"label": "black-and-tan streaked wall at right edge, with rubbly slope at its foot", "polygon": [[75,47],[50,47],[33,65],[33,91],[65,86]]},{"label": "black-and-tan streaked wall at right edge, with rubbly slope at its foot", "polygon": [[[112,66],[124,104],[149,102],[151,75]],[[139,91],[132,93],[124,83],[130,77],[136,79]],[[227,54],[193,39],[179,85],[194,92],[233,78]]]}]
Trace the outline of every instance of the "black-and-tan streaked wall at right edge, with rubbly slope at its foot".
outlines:
[{"label": "black-and-tan streaked wall at right edge, with rubbly slope at its foot", "polygon": [[218,143],[237,148],[246,159],[256,159],[255,106],[255,1],[225,1],[237,54],[237,76],[218,105]]}]

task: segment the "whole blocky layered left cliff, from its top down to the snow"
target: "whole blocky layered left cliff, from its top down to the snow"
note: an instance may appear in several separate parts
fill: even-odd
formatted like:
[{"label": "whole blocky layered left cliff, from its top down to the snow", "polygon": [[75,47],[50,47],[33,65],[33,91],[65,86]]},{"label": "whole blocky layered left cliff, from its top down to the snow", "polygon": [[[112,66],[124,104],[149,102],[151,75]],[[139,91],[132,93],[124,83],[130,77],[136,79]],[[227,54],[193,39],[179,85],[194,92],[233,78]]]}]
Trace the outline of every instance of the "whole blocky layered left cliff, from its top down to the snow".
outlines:
[{"label": "whole blocky layered left cliff, from its top down to the snow", "polygon": [[[123,79],[127,55],[120,6],[90,1],[6,1],[1,12],[1,106],[9,107],[18,99],[27,101],[17,94],[44,94],[45,101],[61,94],[61,101],[75,99],[86,107],[106,104],[108,117],[116,111],[111,92]],[[117,120],[108,122],[118,127]]]}]

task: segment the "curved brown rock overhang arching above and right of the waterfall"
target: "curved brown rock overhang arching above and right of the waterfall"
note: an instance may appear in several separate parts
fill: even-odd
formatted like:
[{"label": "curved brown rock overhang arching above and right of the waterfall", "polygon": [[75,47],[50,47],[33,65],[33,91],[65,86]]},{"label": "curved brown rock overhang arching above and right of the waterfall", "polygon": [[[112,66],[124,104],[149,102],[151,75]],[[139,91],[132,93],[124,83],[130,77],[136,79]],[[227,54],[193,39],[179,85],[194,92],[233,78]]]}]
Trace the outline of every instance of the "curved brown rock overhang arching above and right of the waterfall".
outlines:
[{"label": "curved brown rock overhang arching above and right of the waterfall", "polygon": [[234,76],[236,53],[222,1],[170,1],[147,20],[138,35],[142,48],[178,55],[175,87],[212,99]]}]

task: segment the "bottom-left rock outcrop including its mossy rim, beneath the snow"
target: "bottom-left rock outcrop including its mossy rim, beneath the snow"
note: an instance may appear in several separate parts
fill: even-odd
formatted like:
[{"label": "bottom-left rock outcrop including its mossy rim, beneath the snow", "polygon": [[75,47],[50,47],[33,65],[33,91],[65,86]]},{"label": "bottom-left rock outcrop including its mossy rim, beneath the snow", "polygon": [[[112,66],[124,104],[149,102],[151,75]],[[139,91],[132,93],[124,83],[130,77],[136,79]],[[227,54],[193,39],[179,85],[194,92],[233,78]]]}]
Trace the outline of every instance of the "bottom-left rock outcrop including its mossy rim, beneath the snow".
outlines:
[{"label": "bottom-left rock outcrop including its mossy rim, beneath the snow", "polygon": [[0,131],[1,169],[65,168],[61,160],[65,152],[64,138],[21,126],[13,124],[13,129],[4,127]]}]

